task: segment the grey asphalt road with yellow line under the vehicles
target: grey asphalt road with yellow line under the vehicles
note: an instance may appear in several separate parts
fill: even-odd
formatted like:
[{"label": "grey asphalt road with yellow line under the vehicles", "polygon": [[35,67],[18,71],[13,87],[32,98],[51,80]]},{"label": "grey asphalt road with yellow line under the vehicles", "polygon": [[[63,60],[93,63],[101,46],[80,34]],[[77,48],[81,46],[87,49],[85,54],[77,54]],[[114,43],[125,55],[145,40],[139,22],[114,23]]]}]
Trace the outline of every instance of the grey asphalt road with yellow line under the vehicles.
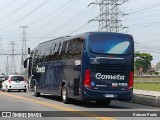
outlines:
[{"label": "grey asphalt road with yellow line under the vehicles", "polygon": [[[95,102],[73,100],[63,104],[61,98],[52,95],[34,97],[32,92],[1,92],[0,111],[11,112],[12,118],[0,120],[159,120],[160,108],[122,101],[112,101],[110,105],[97,105]],[[47,112],[46,112],[47,111]],[[156,112],[159,111],[159,112]],[[13,113],[14,112],[14,113]],[[3,113],[5,116],[6,113]],[[18,116],[19,115],[19,116]],[[133,117],[133,116],[155,117]],[[18,117],[17,117],[18,116]],[[32,118],[37,116],[38,118]],[[29,118],[30,117],[30,118]]]}]

